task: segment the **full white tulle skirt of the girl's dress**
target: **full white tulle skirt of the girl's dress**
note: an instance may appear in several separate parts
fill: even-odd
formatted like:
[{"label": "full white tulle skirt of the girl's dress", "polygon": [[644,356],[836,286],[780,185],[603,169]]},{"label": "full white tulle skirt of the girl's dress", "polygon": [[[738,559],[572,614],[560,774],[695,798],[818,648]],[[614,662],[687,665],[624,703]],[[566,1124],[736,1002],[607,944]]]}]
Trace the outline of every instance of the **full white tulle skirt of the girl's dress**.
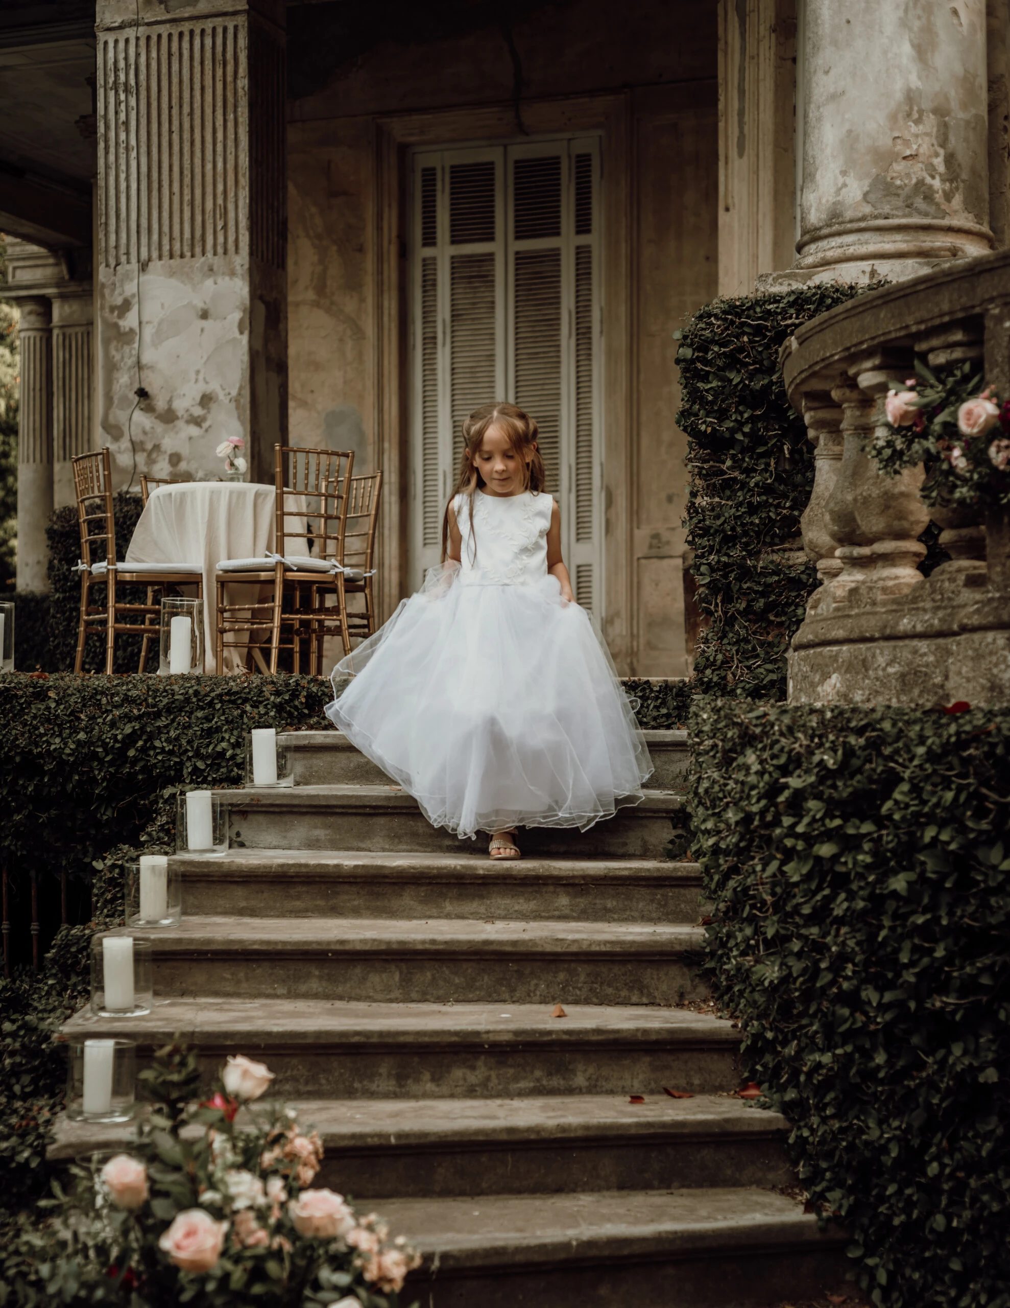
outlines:
[{"label": "full white tulle skirt of the girl's dress", "polygon": [[554,577],[425,587],[342,659],[328,717],[459,836],[578,827],[642,799],[652,763],[609,651]]}]

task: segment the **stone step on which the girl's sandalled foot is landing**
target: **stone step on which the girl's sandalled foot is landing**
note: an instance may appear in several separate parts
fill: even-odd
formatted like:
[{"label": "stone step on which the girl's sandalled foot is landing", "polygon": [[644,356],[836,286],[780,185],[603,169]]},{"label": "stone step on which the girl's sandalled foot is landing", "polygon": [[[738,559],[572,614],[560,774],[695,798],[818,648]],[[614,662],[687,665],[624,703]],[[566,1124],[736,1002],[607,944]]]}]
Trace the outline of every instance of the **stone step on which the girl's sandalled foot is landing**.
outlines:
[{"label": "stone step on which the girl's sandalled foot is landing", "polygon": [[183,910],[247,917],[477,917],[682,922],[702,912],[698,863],[669,859],[487,858],[486,852],[233,849],[180,854]]}]

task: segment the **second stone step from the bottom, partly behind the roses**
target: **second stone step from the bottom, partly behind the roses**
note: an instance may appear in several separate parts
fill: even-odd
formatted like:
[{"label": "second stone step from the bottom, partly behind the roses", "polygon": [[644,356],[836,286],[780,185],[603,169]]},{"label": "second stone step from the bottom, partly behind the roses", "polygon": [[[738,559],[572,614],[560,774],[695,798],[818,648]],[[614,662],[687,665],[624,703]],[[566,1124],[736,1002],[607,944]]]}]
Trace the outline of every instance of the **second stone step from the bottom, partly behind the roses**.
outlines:
[{"label": "second stone step from the bottom, partly behind the roses", "polygon": [[[303,1100],[316,1185],[358,1201],[789,1185],[785,1118],[733,1096]],[[128,1148],[132,1127],[60,1118],[54,1162]]]}]

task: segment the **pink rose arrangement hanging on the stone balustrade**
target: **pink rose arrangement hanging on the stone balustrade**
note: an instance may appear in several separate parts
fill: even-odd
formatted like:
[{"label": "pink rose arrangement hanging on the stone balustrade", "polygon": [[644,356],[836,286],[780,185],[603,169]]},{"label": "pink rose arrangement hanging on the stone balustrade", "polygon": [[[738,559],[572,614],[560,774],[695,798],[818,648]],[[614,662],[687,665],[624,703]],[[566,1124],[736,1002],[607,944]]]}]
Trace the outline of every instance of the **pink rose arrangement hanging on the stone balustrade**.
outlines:
[{"label": "pink rose arrangement hanging on the stone balustrade", "polygon": [[984,387],[969,362],[941,379],[916,360],[916,374],[887,392],[887,426],[870,446],[881,470],[894,476],[922,463],[928,505],[1010,506],[1010,400]]}]

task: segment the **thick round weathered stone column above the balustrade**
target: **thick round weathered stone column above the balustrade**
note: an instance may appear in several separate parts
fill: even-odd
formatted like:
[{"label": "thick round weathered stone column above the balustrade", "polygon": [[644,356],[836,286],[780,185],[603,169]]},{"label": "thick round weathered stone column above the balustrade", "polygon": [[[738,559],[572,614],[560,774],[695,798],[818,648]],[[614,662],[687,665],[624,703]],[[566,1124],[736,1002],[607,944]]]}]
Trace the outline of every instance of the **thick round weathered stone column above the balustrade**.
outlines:
[{"label": "thick round weathered stone column above the balustrade", "polygon": [[806,0],[794,275],[902,280],[990,249],[985,21],[985,0]]}]

